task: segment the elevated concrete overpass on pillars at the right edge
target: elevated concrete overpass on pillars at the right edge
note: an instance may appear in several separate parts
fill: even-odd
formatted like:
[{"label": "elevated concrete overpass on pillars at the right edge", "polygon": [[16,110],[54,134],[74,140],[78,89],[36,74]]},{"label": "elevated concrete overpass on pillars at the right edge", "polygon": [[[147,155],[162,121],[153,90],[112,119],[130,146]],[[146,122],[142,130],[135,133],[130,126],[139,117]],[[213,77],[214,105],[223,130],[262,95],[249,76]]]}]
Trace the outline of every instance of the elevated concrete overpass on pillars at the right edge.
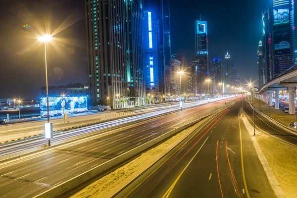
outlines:
[{"label": "elevated concrete overpass on pillars at the right edge", "polygon": [[258,99],[272,106],[272,93],[275,92],[275,109],[279,109],[279,91],[289,88],[289,113],[295,114],[295,93],[297,87],[297,65],[292,66],[277,78],[254,92]]}]

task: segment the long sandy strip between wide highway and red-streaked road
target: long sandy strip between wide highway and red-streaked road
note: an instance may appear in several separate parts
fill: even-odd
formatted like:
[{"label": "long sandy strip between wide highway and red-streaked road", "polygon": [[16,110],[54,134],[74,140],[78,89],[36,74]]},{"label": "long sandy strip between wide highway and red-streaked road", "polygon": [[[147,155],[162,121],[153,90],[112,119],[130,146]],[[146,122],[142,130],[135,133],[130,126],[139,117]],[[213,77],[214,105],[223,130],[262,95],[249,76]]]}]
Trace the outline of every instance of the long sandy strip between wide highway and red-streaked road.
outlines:
[{"label": "long sandy strip between wide highway and red-streaked road", "polygon": [[173,136],[163,144],[144,152],[141,156],[132,160],[128,164],[118,168],[114,172],[93,182],[83,190],[74,194],[71,198],[109,198],[133,178],[146,170],[152,163],[158,160],[168,150],[175,147],[187,135],[189,135],[201,122],[197,123],[177,135]]}]

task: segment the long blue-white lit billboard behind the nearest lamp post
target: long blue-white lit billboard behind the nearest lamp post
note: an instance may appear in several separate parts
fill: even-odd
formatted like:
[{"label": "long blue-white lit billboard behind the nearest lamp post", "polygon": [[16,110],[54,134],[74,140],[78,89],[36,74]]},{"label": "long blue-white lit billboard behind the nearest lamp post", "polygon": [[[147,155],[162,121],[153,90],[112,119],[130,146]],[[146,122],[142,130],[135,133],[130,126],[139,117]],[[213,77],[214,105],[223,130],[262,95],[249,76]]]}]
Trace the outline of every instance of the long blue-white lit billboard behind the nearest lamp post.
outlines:
[{"label": "long blue-white lit billboard behind the nearest lamp post", "polygon": [[[41,114],[47,114],[47,98],[41,98]],[[88,96],[79,97],[49,97],[49,114],[65,113],[71,111],[84,111],[88,109]]]}]

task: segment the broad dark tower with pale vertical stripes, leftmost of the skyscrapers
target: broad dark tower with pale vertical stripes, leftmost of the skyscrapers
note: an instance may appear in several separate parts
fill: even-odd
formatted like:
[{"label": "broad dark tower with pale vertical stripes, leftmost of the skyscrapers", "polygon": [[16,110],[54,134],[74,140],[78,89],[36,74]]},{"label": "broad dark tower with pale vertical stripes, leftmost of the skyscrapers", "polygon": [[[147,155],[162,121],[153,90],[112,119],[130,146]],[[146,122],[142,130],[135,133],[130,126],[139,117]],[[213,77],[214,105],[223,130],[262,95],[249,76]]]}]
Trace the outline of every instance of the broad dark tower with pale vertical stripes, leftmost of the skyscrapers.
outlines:
[{"label": "broad dark tower with pale vertical stripes, leftmost of the skyscrapers", "polygon": [[[127,96],[125,4],[85,0],[89,95],[93,105]],[[117,17],[114,17],[117,16]]]}]

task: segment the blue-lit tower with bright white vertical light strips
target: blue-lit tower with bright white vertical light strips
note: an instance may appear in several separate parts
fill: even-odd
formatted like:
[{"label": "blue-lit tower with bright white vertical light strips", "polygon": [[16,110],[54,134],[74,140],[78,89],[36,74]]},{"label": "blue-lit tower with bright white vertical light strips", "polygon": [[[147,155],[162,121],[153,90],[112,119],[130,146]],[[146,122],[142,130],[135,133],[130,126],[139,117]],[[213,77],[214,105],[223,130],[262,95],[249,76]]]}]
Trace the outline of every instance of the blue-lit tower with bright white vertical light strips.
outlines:
[{"label": "blue-lit tower with bright white vertical light strips", "polygon": [[146,91],[147,94],[161,96],[160,27],[159,20],[152,11],[144,12],[143,39]]}]

